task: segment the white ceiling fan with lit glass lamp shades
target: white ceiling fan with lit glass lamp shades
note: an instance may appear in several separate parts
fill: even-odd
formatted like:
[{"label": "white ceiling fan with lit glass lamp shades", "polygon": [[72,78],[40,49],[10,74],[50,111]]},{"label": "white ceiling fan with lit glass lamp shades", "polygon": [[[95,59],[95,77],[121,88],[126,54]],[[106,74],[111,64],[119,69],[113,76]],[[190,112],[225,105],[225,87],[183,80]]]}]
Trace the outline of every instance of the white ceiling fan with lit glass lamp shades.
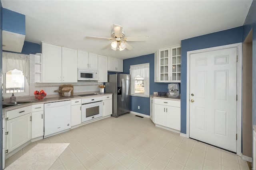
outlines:
[{"label": "white ceiling fan with lit glass lamp shades", "polygon": [[138,42],[138,41],[147,41],[149,36],[141,36],[141,37],[125,37],[124,38],[124,30],[123,27],[117,24],[113,24],[114,29],[111,31],[112,38],[103,38],[103,37],[93,37],[93,36],[86,36],[85,38],[91,39],[100,39],[100,40],[114,40],[110,44],[103,47],[103,49],[107,49],[111,47],[112,49],[116,50],[119,49],[120,51],[124,49],[132,50],[132,45],[128,44],[127,42]]}]

